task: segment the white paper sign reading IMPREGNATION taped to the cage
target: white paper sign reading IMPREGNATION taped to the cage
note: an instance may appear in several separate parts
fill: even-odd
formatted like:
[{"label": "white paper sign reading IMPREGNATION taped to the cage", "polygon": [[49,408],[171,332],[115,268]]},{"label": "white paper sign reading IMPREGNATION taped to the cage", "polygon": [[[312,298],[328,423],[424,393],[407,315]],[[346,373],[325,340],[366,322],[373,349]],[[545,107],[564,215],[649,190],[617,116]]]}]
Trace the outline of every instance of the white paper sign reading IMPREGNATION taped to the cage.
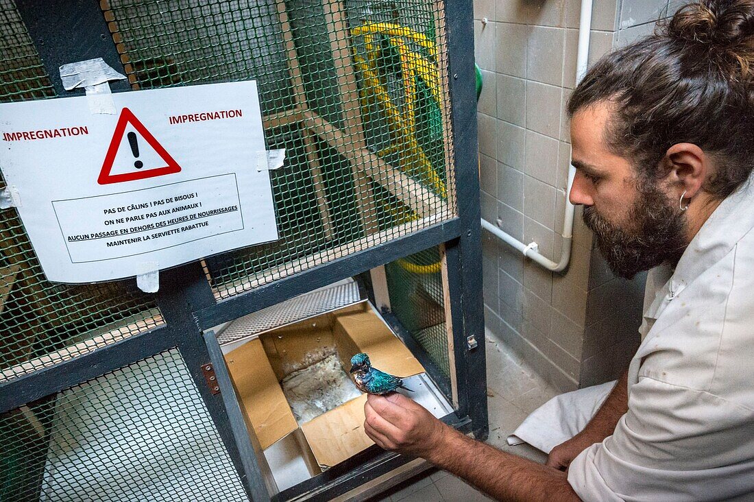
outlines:
[{"label": "white paper sign reading IMPREGNATION taped to the cage", "polygon": [[[0,105],[0,168],[51,281],[135,276],[277,239],[256,82]],[[6,210],[6,211],[13,211]]]}]

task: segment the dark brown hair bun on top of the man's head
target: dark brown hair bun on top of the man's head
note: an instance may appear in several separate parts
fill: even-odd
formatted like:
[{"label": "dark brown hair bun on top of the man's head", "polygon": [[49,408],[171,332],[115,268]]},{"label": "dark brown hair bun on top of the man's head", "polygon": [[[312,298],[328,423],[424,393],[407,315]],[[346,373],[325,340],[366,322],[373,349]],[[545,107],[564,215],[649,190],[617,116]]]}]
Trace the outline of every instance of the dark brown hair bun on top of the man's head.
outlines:
[{"label": "dark brown hair bun on top of the man's head", "polygon": [[664,35],[691,44],[754,50],[754,0],[703,0],[685,5],[664,26]]}]

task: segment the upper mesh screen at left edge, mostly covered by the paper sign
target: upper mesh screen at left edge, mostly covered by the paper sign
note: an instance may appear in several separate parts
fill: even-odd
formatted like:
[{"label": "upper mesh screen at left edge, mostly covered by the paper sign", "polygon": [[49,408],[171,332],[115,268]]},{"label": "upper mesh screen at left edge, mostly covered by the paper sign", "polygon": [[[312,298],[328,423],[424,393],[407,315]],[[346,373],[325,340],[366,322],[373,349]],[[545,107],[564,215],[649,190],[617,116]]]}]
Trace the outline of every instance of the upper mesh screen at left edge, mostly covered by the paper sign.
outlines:
[{"label": "upper mesh screen at left edge, mostly covered by the paper sign", "polygon": [[[0,32],[0,102],[54,96],[8,0],[0,1]],[[17,211],[0,210],[0,382],[160,325],[155,303],[132,283],[48,282]]]}]

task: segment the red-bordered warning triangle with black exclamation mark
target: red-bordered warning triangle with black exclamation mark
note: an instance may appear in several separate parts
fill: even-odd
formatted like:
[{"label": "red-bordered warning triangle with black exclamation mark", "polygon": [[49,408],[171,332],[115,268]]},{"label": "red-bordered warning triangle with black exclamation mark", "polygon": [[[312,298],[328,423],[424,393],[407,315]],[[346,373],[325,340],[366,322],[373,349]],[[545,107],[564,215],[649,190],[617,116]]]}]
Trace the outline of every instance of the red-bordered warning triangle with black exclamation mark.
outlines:
[{"label": "red-bordered warning triangle with black exclamation mark", "polygon": [[[132,130],[126,133],[127,127]],[[127,141],[124,141],[126,139]],[[139,140],[142,144],[141,149],[139,149]],[[124,143],[126,144],[125,147],[123,146]],[[120,156],[118,156],[118,152],[121,152]],[[149,155],[148,152],[153,152],[156,156]],[[119,161],[118,168],[113,171],[116,159]],[[105,185],[107,183],[144,180],[149,177],[163,176],[180,171],[181,168],[173,160],[173,157],[165,151],[158,140],[155,140],[155,137],[139,122],[139,119],[136,119],[133,112],[127,108],[122,109],[97,183]]]}]

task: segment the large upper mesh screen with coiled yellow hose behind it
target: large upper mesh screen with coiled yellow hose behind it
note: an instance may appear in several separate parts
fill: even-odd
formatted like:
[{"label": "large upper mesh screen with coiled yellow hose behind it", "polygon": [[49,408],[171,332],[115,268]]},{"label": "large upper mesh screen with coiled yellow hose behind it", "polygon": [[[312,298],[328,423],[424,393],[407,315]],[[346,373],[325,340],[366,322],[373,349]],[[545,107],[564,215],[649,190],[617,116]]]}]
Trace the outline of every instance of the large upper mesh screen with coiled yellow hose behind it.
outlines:
[{"label": "large upper mesh screen with coiled yellow hose behind it", "polygon": [[103,8],[134,88],[256,79],[267,146],[287,149],[271,172],[280,239],[207,259],[216,297],[455,214],[440,2]]}]

